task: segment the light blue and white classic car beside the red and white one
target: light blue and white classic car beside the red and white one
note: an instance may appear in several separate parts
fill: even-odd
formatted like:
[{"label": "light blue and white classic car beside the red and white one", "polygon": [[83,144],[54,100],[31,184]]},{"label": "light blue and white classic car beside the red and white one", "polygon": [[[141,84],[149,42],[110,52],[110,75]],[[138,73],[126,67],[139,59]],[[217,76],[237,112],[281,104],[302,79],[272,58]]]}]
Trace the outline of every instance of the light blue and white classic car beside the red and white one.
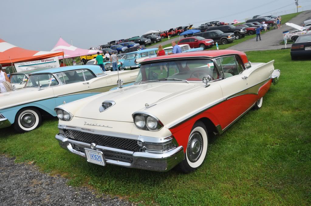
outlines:
[{"label": "light blue and white classic car beside the red and white one", "polygon": [[[97,65],[45,69],[29,75],[24,88],[0,94],[0,128],[14,125],[18,132],[37,128],[42,115],[57,116],[54,108],[85,97],[107,92],[136,80],[139,70],[103,72]],[[72,114],[64,112],[63,117]]]}]

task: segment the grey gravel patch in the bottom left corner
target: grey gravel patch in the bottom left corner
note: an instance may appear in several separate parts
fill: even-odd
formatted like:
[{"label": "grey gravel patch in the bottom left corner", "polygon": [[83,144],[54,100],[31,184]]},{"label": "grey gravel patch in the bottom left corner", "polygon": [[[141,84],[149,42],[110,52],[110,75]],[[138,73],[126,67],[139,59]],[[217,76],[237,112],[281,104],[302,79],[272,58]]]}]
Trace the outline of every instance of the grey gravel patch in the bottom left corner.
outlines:
[{"label": "grey gravel patch in the bottom left corner", "polygon": [[[134,205],[118,197],[96,195],[87,187],[72,187],[63,177],[52,177],[32,164],[14,163],[0,155],[0,205]],[[99,197],[100,196],[100,197]]]}]

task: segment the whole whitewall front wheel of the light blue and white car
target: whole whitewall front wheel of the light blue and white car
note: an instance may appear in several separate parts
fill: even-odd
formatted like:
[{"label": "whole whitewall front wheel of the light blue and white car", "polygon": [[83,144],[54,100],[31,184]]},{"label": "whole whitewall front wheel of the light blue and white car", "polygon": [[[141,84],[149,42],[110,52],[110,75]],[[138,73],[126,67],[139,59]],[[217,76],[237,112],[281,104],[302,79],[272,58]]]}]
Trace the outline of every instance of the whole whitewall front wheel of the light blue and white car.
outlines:
[{"label": "whole whitewall front wheel of the light blue and white car", "polygon": [[41,124],[41,114],[34,108],[20,110],[15,116],[14,129],[16,132],[28,132]]}]

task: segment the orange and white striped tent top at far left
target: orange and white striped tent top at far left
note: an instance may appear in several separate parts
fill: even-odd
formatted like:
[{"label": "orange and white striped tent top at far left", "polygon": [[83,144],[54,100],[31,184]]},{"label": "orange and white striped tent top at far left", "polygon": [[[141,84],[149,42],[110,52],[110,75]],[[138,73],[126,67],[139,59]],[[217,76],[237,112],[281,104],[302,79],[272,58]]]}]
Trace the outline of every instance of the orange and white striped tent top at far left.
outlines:
[{"label": "orange and white striped tent top at far left", "polygon": [[0,39],[0,64],[2,64],[2,66],[63,55],[64,52],[45,52],[23,49]]}]

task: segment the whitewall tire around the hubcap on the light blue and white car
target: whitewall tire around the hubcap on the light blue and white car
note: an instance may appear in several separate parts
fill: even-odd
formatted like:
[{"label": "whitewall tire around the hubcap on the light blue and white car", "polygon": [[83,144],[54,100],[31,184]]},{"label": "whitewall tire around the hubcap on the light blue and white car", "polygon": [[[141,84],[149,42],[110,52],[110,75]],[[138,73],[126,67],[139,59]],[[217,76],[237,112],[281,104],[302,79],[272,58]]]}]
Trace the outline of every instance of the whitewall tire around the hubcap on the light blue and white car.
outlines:
[{"label": "whitewall tire around the hubcap on the light blue and white car", "polygon": [[[30,128],[25,128],[24,126],[21,125],[21,121],[20,121],[21,117],[26,113],[31,113],[35,116],[35,124]],[[18,132],[28,132],[28,131],[34,130],[35,128],[39,127],[40,124],[41,124],[40,112],[36,109],[26,108],[26,109],[19,111],[16,114],[14,126]]]}]

